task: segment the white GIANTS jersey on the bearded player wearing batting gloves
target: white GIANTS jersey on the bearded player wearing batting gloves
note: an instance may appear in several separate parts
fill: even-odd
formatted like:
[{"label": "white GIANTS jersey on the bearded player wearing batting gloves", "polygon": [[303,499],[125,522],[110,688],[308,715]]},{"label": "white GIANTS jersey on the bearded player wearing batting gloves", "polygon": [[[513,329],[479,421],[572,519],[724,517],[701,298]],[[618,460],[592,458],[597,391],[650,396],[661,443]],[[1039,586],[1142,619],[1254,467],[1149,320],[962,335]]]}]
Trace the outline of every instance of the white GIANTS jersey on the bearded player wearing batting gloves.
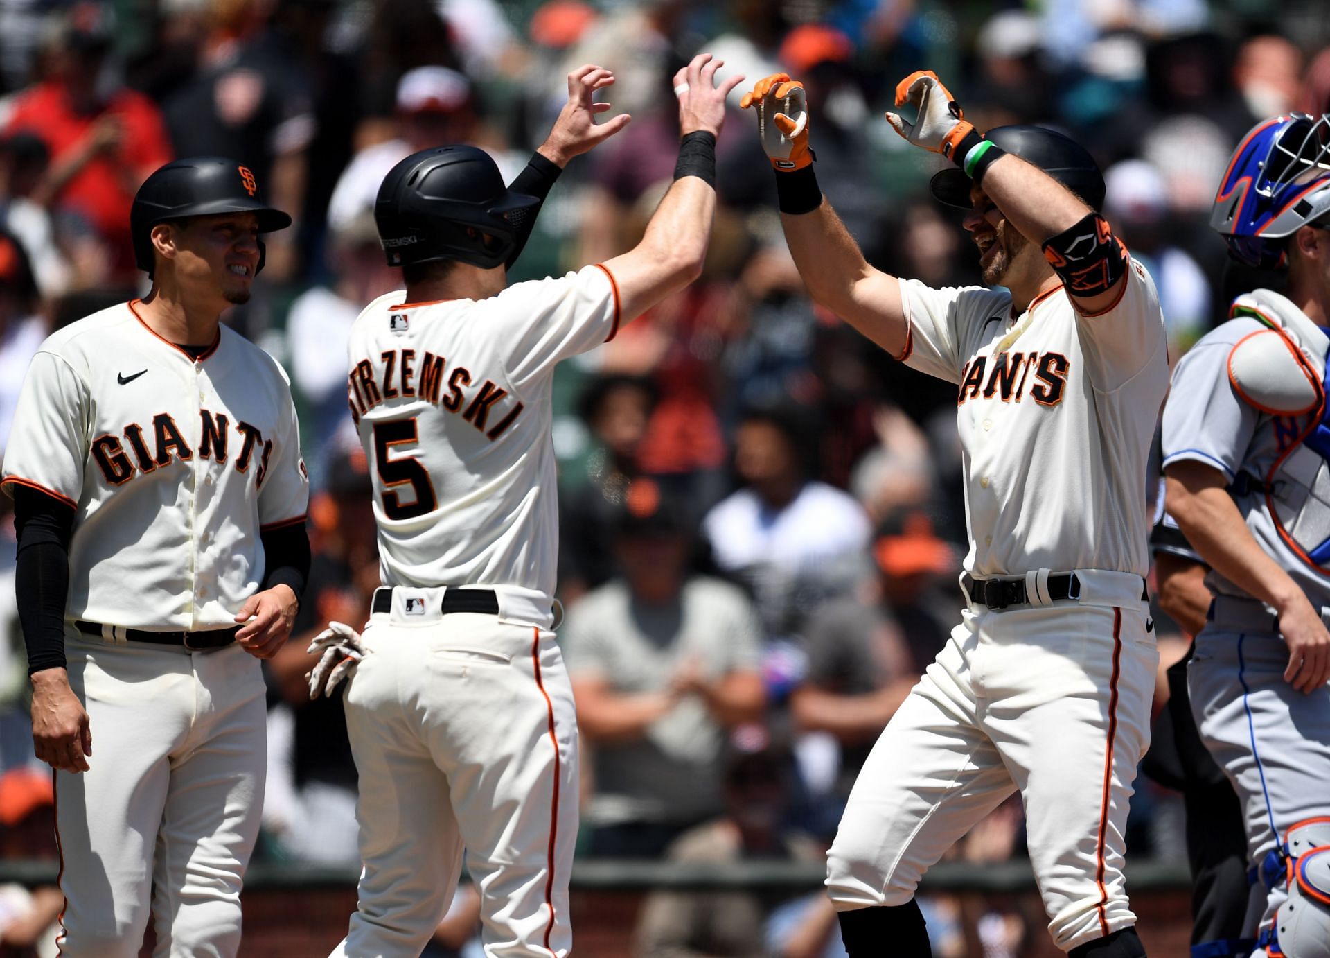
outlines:
[{"label": "white GIANTS jersey on the bearded player wearing batting gloves", "polygon": [[1096,317],[1079,315],[1061,286],[1019,317],[1004,289],[903,279],[900,291],[899,358],[959,385],[966,568],[1144,576],[1145,464],[1169,374],[1149,274],[1133,259],[1121,298]]}]

